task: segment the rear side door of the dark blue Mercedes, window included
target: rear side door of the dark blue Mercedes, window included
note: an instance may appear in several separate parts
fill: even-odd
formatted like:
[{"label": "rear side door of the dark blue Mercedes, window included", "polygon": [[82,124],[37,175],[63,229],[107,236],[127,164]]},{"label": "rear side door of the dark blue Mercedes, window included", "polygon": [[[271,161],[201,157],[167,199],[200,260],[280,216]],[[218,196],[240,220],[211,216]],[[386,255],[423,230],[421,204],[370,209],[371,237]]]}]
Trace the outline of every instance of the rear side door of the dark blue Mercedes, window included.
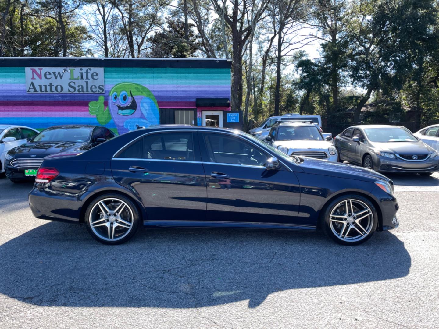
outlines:
[{"label": "rear side door of the dark blue Mercedes, window included", "polygon": [[206,179],[194,134],[151,132],[112,159],[115,181],[140,196],[146,220],[205,219]]}]

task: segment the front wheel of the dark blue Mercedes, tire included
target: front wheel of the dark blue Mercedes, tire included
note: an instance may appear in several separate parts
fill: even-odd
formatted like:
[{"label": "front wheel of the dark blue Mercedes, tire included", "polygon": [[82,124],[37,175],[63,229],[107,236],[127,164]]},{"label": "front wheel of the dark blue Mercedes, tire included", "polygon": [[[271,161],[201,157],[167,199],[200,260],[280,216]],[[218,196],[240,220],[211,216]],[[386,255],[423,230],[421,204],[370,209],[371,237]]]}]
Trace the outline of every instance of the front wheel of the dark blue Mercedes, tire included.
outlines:
[{"label": "front wheel of the dark blue Mercedes, tire included", "polygon": [[374,205],[357,194],[344,195],[325,207],[324,230],[340,244],[356,245],[367,241],[377,229]]}]

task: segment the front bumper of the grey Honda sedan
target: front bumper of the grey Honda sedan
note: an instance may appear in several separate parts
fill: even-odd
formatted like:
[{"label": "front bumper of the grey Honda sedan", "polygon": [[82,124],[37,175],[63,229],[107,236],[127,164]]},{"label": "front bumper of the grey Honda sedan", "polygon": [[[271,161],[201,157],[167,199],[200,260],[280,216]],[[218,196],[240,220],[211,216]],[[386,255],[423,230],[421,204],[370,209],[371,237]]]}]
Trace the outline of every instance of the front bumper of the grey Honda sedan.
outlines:
[{"label": "front bumper of the grey Honda sedan", "polygon": [[439,170],[439,159],[427,159],[425,161],[404,161],[400,159],[389,159],[374,154],[374,169],[377,172],[393,173],[422,173],[435,172]]}]

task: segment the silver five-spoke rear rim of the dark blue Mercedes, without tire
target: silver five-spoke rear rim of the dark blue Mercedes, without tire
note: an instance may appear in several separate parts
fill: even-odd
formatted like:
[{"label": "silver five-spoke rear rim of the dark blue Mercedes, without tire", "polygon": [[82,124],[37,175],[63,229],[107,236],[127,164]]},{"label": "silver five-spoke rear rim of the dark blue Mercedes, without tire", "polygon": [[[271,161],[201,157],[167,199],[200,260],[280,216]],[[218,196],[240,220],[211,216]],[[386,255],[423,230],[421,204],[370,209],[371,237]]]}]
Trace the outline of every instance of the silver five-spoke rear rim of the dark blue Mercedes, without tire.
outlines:
[{"label": "silver five-spoke rear rim of the dark blue Mercedes, without tire", "polygon": [[90,228],[100,239],[117,241],[131,232],[133,211],[126,202],[117,198],[99,200],[88,218]]}]

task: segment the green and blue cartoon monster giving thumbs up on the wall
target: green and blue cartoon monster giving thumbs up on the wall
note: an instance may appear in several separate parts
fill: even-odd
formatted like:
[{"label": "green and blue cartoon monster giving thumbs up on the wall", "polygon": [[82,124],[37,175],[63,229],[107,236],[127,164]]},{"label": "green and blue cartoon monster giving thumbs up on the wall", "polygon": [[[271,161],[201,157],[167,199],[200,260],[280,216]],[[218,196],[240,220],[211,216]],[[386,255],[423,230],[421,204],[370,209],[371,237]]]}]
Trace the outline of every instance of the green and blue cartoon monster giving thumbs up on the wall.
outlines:
[{"label": "green and blue cartoon monster giving thumbs up on the wall", "polygon": [[132,82],[121,82],[113,86],[104,106],[104,96],[88,104],[89,113],[96,115],[101,125],[113,118],[120,134],[135,130],[136,125],[148,127],[159,124],[158,104],[148,88]]}]

